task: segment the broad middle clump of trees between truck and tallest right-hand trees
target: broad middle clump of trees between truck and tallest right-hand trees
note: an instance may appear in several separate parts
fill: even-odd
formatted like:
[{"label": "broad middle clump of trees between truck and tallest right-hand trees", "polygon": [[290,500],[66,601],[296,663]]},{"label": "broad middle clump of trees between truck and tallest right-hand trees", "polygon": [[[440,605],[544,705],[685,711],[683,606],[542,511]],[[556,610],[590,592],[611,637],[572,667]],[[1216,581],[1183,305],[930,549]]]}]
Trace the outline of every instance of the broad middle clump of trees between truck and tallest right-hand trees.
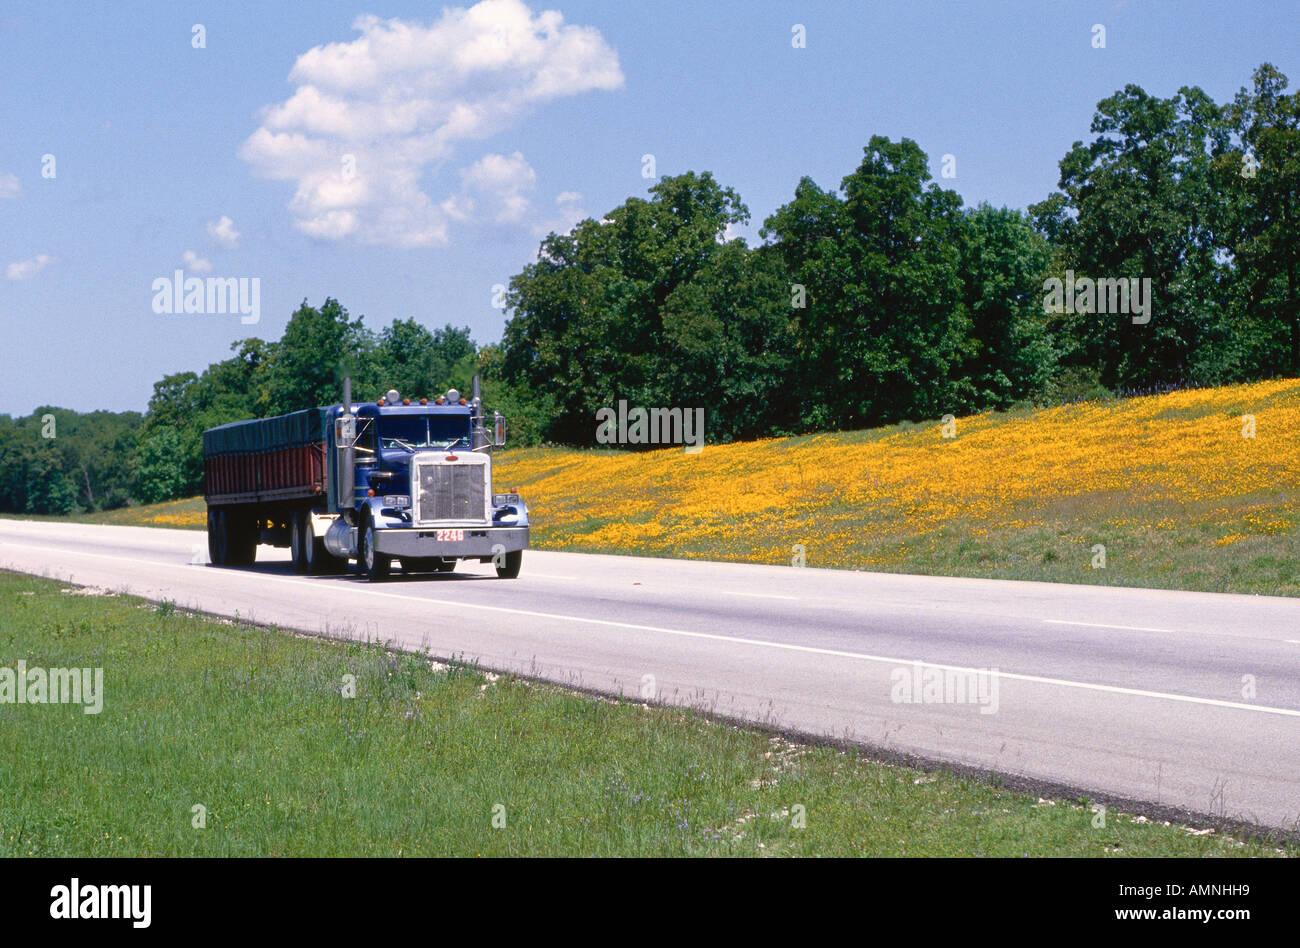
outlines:
[{"label": "broad middle clump of trees between truck and tallest right-hand trees", "polygon": [[928,179],[915,143],[874,138],[841,191],[805,178],[749,248],[725,239],[749,217],[734,191],[664,178],[515,277],[503,382],[554,399],[541,433],[568,443],[619,401],[703,406],[715,442],[1009,404],[1054,365],[1050,250]]}]

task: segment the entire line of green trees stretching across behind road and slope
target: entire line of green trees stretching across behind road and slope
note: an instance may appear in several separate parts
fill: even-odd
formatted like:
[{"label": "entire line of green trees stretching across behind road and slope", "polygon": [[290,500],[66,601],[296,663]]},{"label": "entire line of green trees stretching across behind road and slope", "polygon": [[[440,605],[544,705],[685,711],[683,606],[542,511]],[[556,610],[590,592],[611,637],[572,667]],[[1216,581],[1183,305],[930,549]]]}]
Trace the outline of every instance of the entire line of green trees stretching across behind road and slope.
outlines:
[{"label": "entire line of green trees stretching across behind road and slope", "polygon": [[[750,220],[733,189],[664,177],[542,241],[510,281],[499,343],[415,319],[376,333],[304,299],[278,341],[155,384],[143,416],[0,416],[0,510],[200,493],[204,428],[337,402],[343,375],[361,398],[478,372],[515,443],[567,445],[593,445],[620,401],[702,407],[725,442],[1300,375],[1300,94],[1286,88],[1268,64],[1225,104],[1126,86],[1024,212],[967,208],[906,138],[871,138],[838,187],[801,179],[753,247],[729,235]],[[1098,312],[1097,281],[1121,280],[1149,286],[1149,319]],[[1050,304],[1052,281],[1079,290],[1072,306]]]}]

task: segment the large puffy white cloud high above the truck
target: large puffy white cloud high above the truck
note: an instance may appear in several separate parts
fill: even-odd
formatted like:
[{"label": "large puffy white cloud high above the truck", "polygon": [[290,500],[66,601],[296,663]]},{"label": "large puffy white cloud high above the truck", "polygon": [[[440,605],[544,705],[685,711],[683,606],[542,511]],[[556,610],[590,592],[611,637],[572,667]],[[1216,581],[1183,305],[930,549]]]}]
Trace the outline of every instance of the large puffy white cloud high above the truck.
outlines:
[{"label": "large puffy white cloud high above the truck", "polygon": [[321,239],[437,246],[451,222],[520,220],[536,174],[517,152],[474,161],[463,191],[441,202],[421,177],[546,101],[623,85],[598,30],[521,0],[445,9],[430,25],[361,16],[354,27],[356,39],[298,57],[296,90],[240,148],[259,173],[295,182],[294,224]]}]

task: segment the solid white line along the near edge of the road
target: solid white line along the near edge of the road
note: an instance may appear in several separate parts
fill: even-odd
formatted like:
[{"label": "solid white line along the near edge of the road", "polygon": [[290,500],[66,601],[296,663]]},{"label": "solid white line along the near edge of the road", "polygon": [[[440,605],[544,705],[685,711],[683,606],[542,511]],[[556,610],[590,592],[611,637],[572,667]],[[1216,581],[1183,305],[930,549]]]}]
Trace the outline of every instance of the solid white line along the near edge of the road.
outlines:
[{"label": "solid white line along the near edge of the road", "polygon": [[[191,567],[188,564],[160,563],[160,562],[157,562],[155,559],[134,559],[134,558],[130,558],[130,557],[110,557],[110,555],[103,554],[103,553],[79,553],[79,551],[75,551],[75,550],[62,550],[62,549],[58,549],[58,547],[31,546],[29,544],[9,544],[9,546],[23,546],[23,547],[27,547],[27,549],[46,550],[46,551],[53,550],[56,553],[70,553],[74,557],[91,557],[94,559],[112,559],[116,563],[124,563],[124,562],[125,563],[140,563],[140,564],[144,564],[144,566],[164,567],[164,568],[168,568],[168,570],[192,570],[194,568],[194,567]],[[306,583],[311,583],[311,580],[302,580],[302,579],[295,579],[295,577],[290,577],[290,576],[266,576],[266,575],[263,575],[263,573],[244,572],[244,571],[240,571],[239,575],[240,576],[247,576],[247,577],[251,577],[251,579],[263,580],[263,581],[266,581],[266,583],[289,583],[289,584],[292,584],[292,585],[296,585],[296,586],[303,586]],[[972,668],[972,667],[962,666],[962,665],[939,665],[936,662],[922,662],[920,659],[916,659],[916,658],[887,658],[884,655],[868,655],[868,654],[864,654],[864,653],[861,653],[861,652],[844,652],[841,649],[822,649],[822,648],[816,648],[814,645],[794,645],[792,642],[772,642],[772,641],[767,641],[767,640],[763,640],[763,639],[745,639],[744,636],[724,636],[724,635],[716,635],[714,632],[689,632],[686,629],[663,628],[662,625],[640,625],[640,624],[630,623],[630,622],[615,622],[614,619],[589,619],[589,618],[581,616],[581,615],[559,615],[556,612],[540,612],[540,611],[532,610],[532,609],[511,609],[510,606],[485,606],[485,605],[481,605],[481,603],[477,603],[477,602],[462,602],[462,601],[458,601],[458,599],[434,599],[434,598],[426,598],[424,596],[403,596],[400,593],[384,593],[384,592],[380,592],[377,589],[369,589],[367,586],[360,586],[360,588],[355,586],[355,585],[335,586],[333,584],[330,584],[330,585],[317,585],[316,588],[321,589],[321,590],[330,590],[330,592],[339,592],[339,593],[364,593],[364,594],[369,594],[369,596],[374,596],[374,597],[385,598],[385,599],[406,599],[408,602],[420,602],[420,603],[424,603],[424,605],[452,606],[452,607],[459,607],[459,609],[478,609],[478,610],[484,610],[484,611],[488,611],[488,612],[507,612],[510,615],[530,615],[530,616],[537,618],[537,619],[558,619],[558,620],[562,620],[562,622],[585,623],[588,625],[606,625],[606,627],[610,627],[610,628],[628,628],[628,629],[636,629],[638,632],[659,632],[662,635],[680,636],[682,639],[705,639],[705,640],[708,640],[708,641],[728,642],[728,644],[733,644],[733,645],[751,645],[751,646],[762,648],[762,649],[780,649],[783,652],[802,652],[802,653],[810,654],[810,655],[829,655],[829,657],[833,657],[833,658],[853,658],[853,659],[857,659],[857,661],[861,661],[861,662],[876,662],[876,663],[880,663],[880,665],[910,666],[910,665],[914,665],[916,662],[920,662],[922,665],[924,665],[924,666],[927,666],[930,668],[941,668],[942,671],[958,671],[958,672],[963,672],[963,674],[978,672],[978,674],[983,674],[983,675],[987,675],[989,672],[988,668]],[[1078,688],[1080,691],[1104,692],[1106,694],[1130,694],[1130,696],[1140,697],[1140,698],[1157,698],[1160,701],[1182,701],[1182,702],[1190,704],[1190,705],[1209,705],[1210,707],[1230,707],[1230,709],[1235,709],[1235,710],[1239,710],[1239,711],[1257,711],[1260,714],[1280,714],[1280,715],[1284,715],[1284,717],[1288,717],[1288,718],[1300,718],[1300,710],[1295,710],[1295,709],[1291,709],[1291,707],[1270,707],[1268,705],[1247,705],[1247,704],[1242,704],[1239,701],[1221,701],[1218,698],[1199,698],[1199,697],[1195,697],[1195,696],[1191,696],[1191,694],[1171,694],[1169,692],[1152,692],[1152,691],[1147,691],[1147,689],[1143,689],[1143,688],[1122,688],[1119,685],[1093,684],[1091,681],[1070,681],[1067,679],[1044,678],[1041,675],[1022,675],[1019,672],[1001,671],[1001,670],[997,672],[997,676],[1000,679],[1009,679],[1009,680],[1013,680],[1013,681],[1028,681],[1028,683],[1032,683],[1032,684],[1057,685],[1057,687],[1061,687],[1061,688]]]}]

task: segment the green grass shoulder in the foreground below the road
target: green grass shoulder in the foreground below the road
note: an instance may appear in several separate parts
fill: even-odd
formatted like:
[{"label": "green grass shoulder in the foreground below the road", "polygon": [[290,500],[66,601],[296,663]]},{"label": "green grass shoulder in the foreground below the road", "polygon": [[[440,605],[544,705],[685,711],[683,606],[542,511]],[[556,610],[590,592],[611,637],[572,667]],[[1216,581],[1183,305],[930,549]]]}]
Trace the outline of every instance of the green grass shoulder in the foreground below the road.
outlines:
[{"label": "green grass shoulder in the foreground below the road", "polygon": [[0,704],[0,856],[1296,854],[86,592],[0,573],[0,666],[104,670]]}]

